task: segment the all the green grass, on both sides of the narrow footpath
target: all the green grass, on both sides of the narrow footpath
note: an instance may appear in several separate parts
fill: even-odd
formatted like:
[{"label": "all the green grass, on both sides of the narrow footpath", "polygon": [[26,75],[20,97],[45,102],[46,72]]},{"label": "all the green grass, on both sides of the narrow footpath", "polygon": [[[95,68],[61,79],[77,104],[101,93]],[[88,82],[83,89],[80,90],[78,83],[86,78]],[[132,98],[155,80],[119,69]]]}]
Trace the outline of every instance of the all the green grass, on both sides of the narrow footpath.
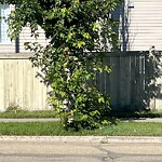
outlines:
[{"label": "all the green grass, on both sides of the narrow footpath", "polygon": [[[54,111],[9,110],[0,112],[0,118],[55,118]],[[162,118],[162,112],[113,113],[114,118]],[[59,122],[26,122],[0,123],[0,135],[32,135],[32,136],[162,136],[162,123],[141,123],[118,121],[116,124],[94,131],[65,131]]]}]

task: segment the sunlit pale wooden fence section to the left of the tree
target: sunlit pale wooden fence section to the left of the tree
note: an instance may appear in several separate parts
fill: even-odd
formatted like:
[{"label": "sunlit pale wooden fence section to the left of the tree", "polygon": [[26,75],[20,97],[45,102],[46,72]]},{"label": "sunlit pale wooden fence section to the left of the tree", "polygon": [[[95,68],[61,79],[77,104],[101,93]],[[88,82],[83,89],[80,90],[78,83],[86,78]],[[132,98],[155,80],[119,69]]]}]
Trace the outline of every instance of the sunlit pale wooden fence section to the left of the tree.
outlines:
[{"label": "sunlit pale wooden fence section to the left of the tree", "polygon": [[28,110],[49,109],[46,87],[37,78],[31,55],[0,55],[0,110],[18,106]]}]

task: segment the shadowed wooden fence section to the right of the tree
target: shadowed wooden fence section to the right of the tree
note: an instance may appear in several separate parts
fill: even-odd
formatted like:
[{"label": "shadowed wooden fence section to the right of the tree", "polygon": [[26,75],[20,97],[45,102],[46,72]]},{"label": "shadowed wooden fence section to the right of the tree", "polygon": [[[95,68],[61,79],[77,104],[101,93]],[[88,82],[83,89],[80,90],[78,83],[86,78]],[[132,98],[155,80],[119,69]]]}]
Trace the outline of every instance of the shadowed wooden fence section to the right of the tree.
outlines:
[{"label": "shadowed wooden fence section to the right of the tree", "polygon": [[97,75],[97,86],[110,94],[116,110],[162,109],[161,53],[107,54],[111,73]]}]

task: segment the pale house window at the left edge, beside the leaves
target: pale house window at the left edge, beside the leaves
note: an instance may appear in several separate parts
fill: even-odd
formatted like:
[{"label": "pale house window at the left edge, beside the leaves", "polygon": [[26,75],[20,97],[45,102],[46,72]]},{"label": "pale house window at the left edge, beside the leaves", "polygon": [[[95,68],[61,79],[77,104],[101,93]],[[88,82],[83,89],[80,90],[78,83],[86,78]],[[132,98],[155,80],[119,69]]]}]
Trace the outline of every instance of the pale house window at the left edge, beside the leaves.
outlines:
[{"label": "pale house window at the left edge, beside the leaves", "polygon": [[[0,4],[0,16],[8,17],[10,14],[10,4]],[[3,18],[0,19],[0,43],[10,43],[8,37],[9,26]]]}]

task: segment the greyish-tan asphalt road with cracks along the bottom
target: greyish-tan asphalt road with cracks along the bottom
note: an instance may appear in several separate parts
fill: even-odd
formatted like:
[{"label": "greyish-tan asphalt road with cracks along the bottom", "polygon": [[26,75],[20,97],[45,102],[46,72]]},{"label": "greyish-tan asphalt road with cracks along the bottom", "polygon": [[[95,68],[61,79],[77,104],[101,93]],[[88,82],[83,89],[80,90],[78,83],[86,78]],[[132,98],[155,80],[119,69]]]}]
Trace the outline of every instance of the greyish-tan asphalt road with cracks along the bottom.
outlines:
[{"label": "greyish-tan asphalt road with cracks along the bottom", "polygon": [[0,162],[162,162],[161,143],[0,141]]}]

